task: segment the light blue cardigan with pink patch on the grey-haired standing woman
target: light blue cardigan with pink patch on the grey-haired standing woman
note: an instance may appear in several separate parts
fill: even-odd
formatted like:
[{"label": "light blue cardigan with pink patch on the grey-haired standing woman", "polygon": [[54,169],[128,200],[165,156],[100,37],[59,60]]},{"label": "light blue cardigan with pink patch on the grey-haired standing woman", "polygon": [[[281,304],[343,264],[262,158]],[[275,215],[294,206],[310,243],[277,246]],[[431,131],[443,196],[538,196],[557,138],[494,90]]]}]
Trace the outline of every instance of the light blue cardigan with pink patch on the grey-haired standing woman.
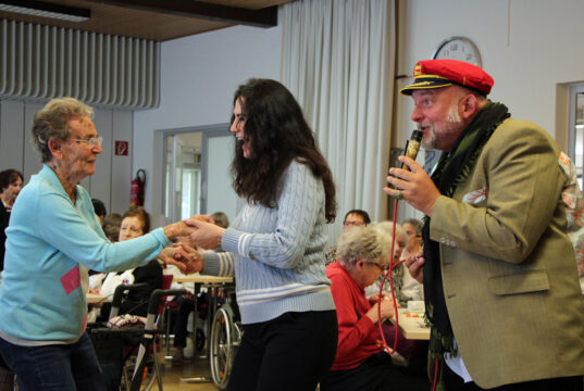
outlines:
[{"label": "light blue cardigan with pink patch on the grey-haired standing woman", "polygon": [[87,272],[147,264],[169,240],[162,229],[111,243],[91,198],[73,204],[47,165],[18,194],[7,229],[0,285],[0,337],[21,345],[73,343],[85,331]]}]

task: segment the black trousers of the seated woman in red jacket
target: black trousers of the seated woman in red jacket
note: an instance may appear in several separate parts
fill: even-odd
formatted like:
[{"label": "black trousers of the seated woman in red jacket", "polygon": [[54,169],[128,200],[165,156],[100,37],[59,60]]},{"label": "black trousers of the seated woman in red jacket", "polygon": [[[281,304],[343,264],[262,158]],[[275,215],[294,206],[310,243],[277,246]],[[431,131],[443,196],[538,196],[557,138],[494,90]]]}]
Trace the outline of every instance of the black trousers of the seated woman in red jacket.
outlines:
[{"label": "black trousers of the seated woman in red jacket", "polygon": [[386,352],[373,354],[357,368],[330,370],[321,391],[430,391],[427,376],[401,371]]}]

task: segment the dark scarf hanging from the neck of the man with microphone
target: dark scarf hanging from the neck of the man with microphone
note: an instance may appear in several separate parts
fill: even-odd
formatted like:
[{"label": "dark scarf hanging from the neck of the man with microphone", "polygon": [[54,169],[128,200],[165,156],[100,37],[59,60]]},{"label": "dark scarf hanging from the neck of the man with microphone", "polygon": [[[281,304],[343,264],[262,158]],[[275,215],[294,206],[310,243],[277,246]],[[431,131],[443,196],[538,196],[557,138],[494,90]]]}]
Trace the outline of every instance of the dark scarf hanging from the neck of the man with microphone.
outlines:
[{"label": "dark scarf hanging from the neck of the man with microphone", "polygon": [[[449,153],[443,153],[432,180],[443,195],[452,197],[459,184],[474,168],[479,156],[495,129],[510,116],[507,106],[490,101],[479,112]],[[430,239],[430,217],[422,228],[424,243],[424,299],[426,317],[439,332],[443,352],[452,350],[452,326],[448,317],[440,270],[439,243]],[[436,346],[438,348],[438,346]],[[436,352],[439,354],[439,352]]]}]

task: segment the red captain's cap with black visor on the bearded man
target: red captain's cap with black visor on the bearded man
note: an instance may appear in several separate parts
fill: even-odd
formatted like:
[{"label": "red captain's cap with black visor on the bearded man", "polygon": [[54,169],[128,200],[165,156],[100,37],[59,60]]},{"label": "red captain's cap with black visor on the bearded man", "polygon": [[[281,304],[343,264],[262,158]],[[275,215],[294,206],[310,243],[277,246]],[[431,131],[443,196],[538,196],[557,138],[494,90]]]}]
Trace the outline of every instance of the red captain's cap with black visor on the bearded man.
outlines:
[{"label": "red captain's cap with black visor on the bearded man", "polygon": [[494,84],[493,77],[476,65],[458,60],[424,60],[413,68],[413,83],[400,92],[411,96],[415,89],[459,85],[486,96]]}]

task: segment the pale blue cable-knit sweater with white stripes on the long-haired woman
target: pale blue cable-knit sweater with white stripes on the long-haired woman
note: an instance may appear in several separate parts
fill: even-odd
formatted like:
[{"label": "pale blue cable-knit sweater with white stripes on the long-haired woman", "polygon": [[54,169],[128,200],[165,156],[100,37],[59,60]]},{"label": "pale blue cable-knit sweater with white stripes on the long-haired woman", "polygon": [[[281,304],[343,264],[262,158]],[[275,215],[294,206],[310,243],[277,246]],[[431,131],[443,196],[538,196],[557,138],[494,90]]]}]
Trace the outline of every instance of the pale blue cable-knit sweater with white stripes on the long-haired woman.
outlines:
[{"label": "pale blue cable-knit sweater with white stripes on the long-haired woman", "polygon": [[294,161],[274,207],[248,204],[225,230],[226,253],[204,254],[204,274],[233,276],[244,324],[287,312],[335,310],[324,269],[322,180]]}]

